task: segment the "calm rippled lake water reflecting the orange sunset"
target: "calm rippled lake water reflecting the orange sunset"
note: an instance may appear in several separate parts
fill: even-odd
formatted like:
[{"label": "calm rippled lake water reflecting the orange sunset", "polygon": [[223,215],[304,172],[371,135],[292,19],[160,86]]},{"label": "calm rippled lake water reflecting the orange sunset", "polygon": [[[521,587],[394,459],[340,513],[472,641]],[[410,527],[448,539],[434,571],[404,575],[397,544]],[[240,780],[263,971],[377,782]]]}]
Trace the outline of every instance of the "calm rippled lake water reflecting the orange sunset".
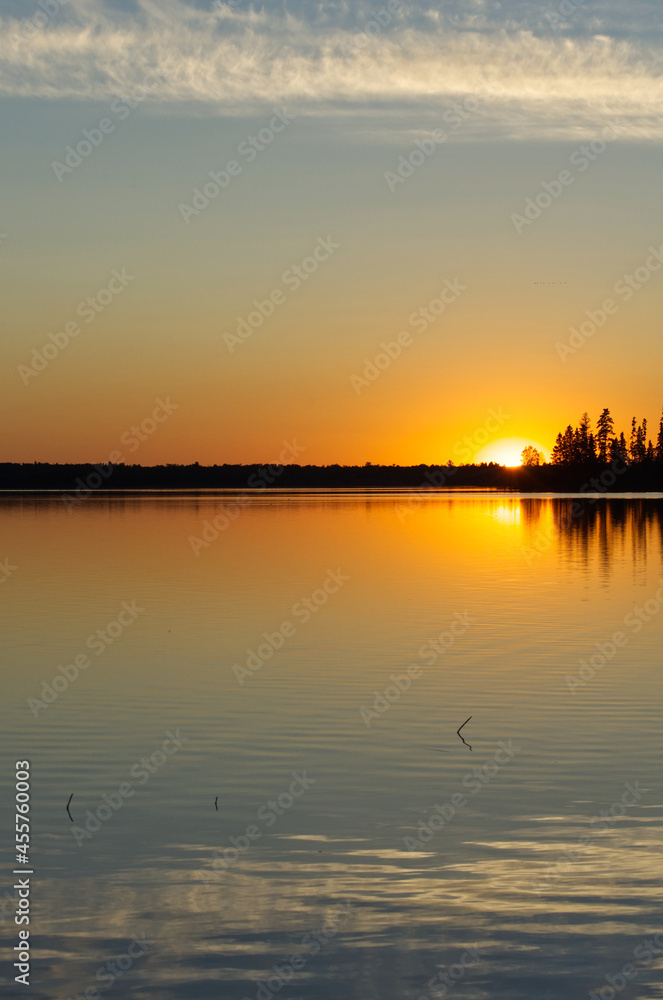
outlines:
[{"label": "calm rippled lake water reflecting the orange sunset", "polygon": [[231,501],[1,502],[8,995],[663,996],[663,500]]}]

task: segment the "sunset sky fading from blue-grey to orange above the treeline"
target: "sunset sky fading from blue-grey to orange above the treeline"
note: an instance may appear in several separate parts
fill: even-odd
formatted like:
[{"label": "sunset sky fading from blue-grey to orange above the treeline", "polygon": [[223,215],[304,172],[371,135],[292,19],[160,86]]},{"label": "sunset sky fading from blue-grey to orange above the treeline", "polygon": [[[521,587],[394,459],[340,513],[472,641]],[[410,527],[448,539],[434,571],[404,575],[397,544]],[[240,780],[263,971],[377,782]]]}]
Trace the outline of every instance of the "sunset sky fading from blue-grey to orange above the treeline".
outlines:
[{"label": "sunset sky fading from blue-grey to orange above the treeline", "polygon": [[654,428],[662,26],[644,0],[2,0],[0,460]]}]

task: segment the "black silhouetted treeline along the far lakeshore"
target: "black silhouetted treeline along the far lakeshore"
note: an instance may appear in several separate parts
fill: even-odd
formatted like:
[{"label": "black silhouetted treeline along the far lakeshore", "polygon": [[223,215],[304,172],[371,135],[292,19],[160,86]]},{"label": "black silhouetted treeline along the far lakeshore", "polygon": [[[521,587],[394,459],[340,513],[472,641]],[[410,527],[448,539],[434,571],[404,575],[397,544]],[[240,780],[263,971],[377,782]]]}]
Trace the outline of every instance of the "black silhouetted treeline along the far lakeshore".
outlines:
[{"label": "black silhouetted treeline along the far lakeshore", "polygon": [[97,492],[132,490],[499,489],[520,492],[663,492],[663,416],[656,443],[647,421],[632,420],[628,438],[617,434],[608,409],[592,429],[587,413],[557,435],[550,462],[536,448],[522,465],[117,465],[105,463],[0,464],[0,490],[61,494],[75,507]]}]

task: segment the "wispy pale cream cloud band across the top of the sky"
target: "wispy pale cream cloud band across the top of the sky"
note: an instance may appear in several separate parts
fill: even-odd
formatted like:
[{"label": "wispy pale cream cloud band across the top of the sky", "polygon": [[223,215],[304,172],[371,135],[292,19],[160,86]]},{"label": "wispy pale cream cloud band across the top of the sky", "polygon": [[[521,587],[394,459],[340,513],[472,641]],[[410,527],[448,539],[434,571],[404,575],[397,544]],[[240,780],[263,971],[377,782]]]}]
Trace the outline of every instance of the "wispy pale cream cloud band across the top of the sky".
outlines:
[{"label": "wispy pale cream cloud band across the top of the sky", "polygon": [[299,114],[416,107],[425,117],[489,84],[467,138],[576,139],[608,121],[635,138],[663,138],[658,45],[504,27],[487,22],[481,6],[460,27],[439,11],[406,10],[357,47],[370,12],[350,24],[347,16],[255,10],[247,0],[206,11],[137,0],[131,12],[70,0],[28,29],[32,37],[26,18],[0,18],[0,94],[106,101],[151,69],[163,83],[150,100],[174,110],[260,113],[282,101]]}]

